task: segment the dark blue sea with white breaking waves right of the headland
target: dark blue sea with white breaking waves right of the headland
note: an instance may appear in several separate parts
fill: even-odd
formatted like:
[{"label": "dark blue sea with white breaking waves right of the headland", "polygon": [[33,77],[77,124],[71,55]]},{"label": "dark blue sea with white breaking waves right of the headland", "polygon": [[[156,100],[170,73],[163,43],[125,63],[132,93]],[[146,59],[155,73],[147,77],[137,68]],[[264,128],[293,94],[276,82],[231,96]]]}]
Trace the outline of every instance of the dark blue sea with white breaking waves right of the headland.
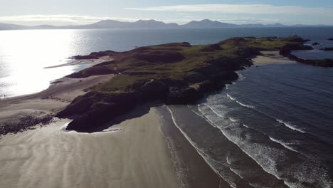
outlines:
[{"label": "dark blue sea with white breaking waves right of the headland", "polygon": [[198,105],[179,127],[231,187],[332,187],[333,68],[267,64]]}]

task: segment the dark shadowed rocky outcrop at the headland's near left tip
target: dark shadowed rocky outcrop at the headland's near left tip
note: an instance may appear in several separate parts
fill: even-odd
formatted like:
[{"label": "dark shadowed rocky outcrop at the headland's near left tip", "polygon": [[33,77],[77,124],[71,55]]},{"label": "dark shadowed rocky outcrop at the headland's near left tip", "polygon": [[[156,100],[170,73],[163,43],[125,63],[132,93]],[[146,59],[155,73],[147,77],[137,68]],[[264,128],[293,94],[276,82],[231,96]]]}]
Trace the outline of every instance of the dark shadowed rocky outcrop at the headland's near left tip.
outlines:
[{"label": "dark shadowed rocky outcrop at the headland's near left tip", "polygon": [[[57,114],[57,117],[76,115],[75,119],[68,124],[68,130],[78,132],[93,132],[100,125],[113,120],[118,115],[128,112],[135,105],[147,98],[142,93],[105,93],[89,92],[73,101],[65,110]],[[93,103],[91,103],[93,101]]]}]

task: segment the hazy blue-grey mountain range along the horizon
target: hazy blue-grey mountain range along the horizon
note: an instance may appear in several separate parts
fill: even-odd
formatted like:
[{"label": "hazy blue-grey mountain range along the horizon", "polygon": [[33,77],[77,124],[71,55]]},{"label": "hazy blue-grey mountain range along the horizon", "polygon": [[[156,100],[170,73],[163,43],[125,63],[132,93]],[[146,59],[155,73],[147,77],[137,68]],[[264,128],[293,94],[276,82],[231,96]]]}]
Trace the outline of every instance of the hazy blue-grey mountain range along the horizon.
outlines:
[{"label": "hazy blue-grey mountain range along the horizon", "polygon": [[[179,25],[178,23],[164,23],[163,21],[155,20],[139,20],[134,22],[115,21],[115,20],[102,20],[97,23],[87,25],[70,25],[70,26],[22,26],[9,23],[0,23],[0,30],[19,30],[19,29],[68,29],[68,28],[268,28],[268,27],[306,27],[310,25],[283,25],[281,23],[274,24],[233,24],[223,23],[220,21],[211,21],[204,19],[201,21],[190,21],[189,23]],[[325,25],[312,25],[312,26],[325,26]]]}]

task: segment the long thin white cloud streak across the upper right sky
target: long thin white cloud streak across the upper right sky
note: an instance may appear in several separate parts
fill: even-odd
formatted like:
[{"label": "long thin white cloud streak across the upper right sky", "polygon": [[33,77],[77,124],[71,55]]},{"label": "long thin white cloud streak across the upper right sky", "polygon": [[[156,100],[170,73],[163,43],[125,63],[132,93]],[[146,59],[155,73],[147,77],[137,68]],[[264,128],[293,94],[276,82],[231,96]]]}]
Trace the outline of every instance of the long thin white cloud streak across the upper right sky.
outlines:
[{"label": "long thin white cloud streak across the upper right sky", "polygon": [[333,8],[274,6],[270,4],[191,4],[125,8],[137,11],[218,12],[226,14],[324,14],[333,15]]}]

